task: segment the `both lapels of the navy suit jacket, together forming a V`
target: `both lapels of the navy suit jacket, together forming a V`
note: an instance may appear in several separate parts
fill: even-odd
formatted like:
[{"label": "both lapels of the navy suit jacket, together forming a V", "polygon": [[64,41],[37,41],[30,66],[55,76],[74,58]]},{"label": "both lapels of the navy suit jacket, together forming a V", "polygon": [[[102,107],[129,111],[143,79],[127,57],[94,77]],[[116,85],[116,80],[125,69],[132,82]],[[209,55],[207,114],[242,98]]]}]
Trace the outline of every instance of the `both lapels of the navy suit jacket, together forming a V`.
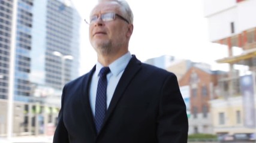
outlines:
[{"label": "both lapels of the navy suit jacket, together forming a V", "polygon": [[121,76],[121,79],[118,82],[118,85],[116,86],[115,92],[113,94],[112,100],[110,101],[109,108],[107,109],[107,113],[102,125],[102,128],[100,132],[97,135],[95,123],[94,123],[94,116],[92,114],[91,104],[89,102],[89,87],[92,79],[92,75],[95,72],[96,66],[92,68],[91,71],[89,71],[88,74],[86,74],[83,77],[83,83],[82,83],[82,100],[81,104],[83,105],[83,111],[86,116],[86,120],[89,124],[89,128],[95,133],[95,135],[99,136],[101,132],[104,130],[104,126],[109,120],[109,117],[112,115],[113,111],[116,108],[116,104],[118,104],[118,101],[121,99],[122,95],[125,92],[125,89],[127,89],[127,86],[131,82],[131,80],[134,78],[135,74],[140,70],[141,67],[141,61],[137,60],[135,55],[132,55],[131,60],[129,61],[127,67],[125,67],[124,73]]}]

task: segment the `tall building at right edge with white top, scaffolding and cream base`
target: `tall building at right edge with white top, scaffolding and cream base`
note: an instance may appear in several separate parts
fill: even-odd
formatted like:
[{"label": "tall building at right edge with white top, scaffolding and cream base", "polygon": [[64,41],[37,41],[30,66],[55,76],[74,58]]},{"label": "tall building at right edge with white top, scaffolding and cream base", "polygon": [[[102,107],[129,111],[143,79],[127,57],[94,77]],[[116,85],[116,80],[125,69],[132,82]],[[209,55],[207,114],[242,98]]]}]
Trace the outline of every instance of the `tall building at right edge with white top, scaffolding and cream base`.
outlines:
[{"label": "tall building at right edge with white top, scaffolding and cream base", "polygon": [[[230,71],[218,77],[218,98],[210,101],[213,133],[255,133],[255,0],[204,0],[211,42],[226,45]],[[239,49],[239,53],[236,53]]]}]

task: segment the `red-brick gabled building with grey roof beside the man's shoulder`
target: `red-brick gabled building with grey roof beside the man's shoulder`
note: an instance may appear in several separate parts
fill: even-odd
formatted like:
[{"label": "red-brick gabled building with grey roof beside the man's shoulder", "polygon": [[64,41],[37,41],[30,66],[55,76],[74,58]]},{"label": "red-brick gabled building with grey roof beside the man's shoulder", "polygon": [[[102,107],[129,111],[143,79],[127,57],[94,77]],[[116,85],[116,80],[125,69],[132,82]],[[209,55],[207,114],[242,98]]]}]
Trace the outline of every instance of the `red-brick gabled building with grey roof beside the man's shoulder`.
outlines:
[{"label": "red-brick gabled building with grey roof beside the man's shoulder", "polygon": [[[171,57],[171,60],[167,60],[168,66],[161,66],[166,63],[165,58],[162,57]],[[151,62],[147,60],[146,63],[171,71],[177,76],[180,92],[186,104],[186,112],[189,119],[189,134],[212,134],[213,124],[209,101],[216,98],[213,89],[217,86],[218,75],[226,72],[212,71],[210,65],[207,63],[197,63],[167,55],[162,57],[151,58]]]}]

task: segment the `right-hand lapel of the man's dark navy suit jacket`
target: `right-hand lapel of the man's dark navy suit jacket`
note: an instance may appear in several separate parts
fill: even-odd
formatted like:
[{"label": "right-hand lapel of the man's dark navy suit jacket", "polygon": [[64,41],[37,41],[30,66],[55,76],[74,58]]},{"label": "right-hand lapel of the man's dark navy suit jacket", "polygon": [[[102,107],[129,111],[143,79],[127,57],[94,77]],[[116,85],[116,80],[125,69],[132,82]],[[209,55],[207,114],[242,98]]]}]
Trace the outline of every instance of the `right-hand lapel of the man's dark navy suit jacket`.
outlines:
[{"label": "right-hand lapel of the man's dark navy suit jacket", "polygon": [[[103,128],[106,124],[107,120],[113,113],[113,110],[116,107],[116,104],[122,97],[123,93],[125,92],[125,89],[127,89],[127,86],[131,82],[132,78],[135,76],[135,74],[140,70],[141,62],[137,60],[135,55],[132,55],[131,60],[129,61],[127,67],[125,68],[124,73],[121,76],[121,79],[118,82],[118,85],[116,86],[115,92],[113,94],[112,100],[110,101],[109,108],[107,109],[107,113],[103,122]],[[103,129],[102,129],[103,130]],[[101,131],[100,131],[101,133]]]}]

